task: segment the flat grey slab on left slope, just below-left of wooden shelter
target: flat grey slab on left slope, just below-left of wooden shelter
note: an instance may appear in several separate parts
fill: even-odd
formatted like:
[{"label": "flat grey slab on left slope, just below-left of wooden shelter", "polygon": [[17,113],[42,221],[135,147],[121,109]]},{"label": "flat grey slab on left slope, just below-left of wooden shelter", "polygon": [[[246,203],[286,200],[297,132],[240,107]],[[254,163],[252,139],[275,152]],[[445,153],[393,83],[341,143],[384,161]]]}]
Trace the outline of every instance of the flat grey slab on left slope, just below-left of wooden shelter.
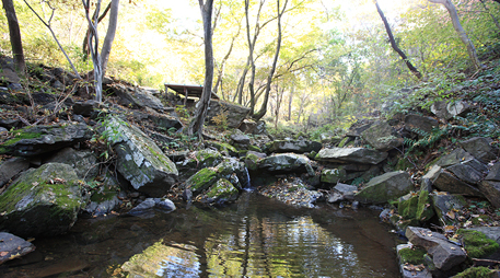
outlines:
[{"label": "flat grey slab on left slope, just below-left of wooden shelter", "polygon": [[119,103],[124,106],[137,106],[141,108],[149,107],[158,112],[163,112],[165,107],[162,102],[148,90],[140,86],[129,86],[115,83],[113,91],[120,99]]}]

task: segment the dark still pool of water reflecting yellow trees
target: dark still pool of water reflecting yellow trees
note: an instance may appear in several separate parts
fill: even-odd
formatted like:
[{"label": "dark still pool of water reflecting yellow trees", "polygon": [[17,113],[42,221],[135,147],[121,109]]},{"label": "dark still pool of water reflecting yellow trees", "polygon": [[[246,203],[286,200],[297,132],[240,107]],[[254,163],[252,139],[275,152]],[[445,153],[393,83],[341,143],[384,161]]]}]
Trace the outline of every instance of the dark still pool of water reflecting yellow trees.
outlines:
[{"label": "dark still pool of water reflecting yellow trees", "polygon": [[[376,211],[300,209],[255,193],[219,209],[82,219],[1,277],[399,277]],[[121,265],[125,264],[124,273]]]}]

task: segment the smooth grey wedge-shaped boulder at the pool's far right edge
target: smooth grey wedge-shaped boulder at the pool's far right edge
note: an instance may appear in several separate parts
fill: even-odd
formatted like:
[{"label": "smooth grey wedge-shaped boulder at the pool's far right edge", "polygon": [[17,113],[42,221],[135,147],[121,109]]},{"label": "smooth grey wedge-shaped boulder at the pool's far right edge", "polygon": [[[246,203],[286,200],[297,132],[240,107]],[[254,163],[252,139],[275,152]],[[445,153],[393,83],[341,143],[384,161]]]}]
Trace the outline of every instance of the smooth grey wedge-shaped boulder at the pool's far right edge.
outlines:
[{"label": "smooth grey wedge-shaped boulder at the pool's far right edge", "polygon": [[362,204],[385,204],[408,194],[414,188],[407,172],[396,171],[376,176],[354,195]]}]

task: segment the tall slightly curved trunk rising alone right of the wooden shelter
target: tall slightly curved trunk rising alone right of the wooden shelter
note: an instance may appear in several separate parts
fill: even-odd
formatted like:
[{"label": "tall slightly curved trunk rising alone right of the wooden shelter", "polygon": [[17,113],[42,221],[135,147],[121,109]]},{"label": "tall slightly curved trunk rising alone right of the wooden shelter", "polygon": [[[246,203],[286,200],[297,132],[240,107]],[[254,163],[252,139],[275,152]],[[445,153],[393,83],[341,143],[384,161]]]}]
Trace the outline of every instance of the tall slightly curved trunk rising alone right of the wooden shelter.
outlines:
[{"label": "tall slightly curved trunk rising alone right of the wooden shelter", "polygon": [[207,117],[208,107],[210,105],[210,96],[212,93],[212,82],[213,82],[213,49],[212,49],[212,10],[213,10],[213,0],[207,0],[204,3],[204,0],[198,0],[201,18],[204,20],[204,36],[205,36],[205,82],[204,82],[204,92],[201,97],[196,105],[195,117],[189,124],[187,134],[188,135],[198,135],[198,139],[201,140],[204,132],[205,118]]}]

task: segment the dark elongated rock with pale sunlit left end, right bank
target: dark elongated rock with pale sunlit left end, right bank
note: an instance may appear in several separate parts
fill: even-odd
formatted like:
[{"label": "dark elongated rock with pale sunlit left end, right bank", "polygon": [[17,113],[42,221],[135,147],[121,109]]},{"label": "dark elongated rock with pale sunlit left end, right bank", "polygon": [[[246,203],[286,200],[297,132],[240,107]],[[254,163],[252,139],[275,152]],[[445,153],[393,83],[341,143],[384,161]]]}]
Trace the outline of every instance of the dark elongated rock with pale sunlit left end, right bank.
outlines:
[{"label": "dark elongated rock with pale sunlit left end, right bank", "polygon": [[478,188],[456,178],[453,174],[437,165],[432,166],[423,177],[430,178],[432,185],[442,192],[484,197]]}]

